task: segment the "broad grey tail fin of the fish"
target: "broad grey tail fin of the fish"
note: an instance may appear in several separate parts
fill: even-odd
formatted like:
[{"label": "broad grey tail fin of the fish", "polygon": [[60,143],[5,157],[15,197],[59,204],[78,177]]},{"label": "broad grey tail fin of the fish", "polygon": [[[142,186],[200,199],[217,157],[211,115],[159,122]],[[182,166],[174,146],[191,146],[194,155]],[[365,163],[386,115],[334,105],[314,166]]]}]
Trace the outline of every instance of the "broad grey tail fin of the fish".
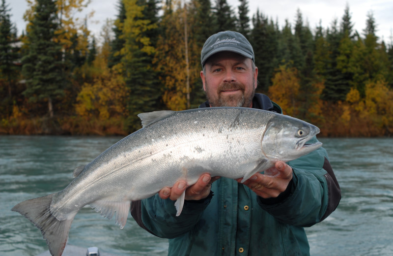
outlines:
[{"label": "broad grey tail fin of the fish", "polygon": [[50,194],[23,201],[15,205],[11,211],[19,212],[41,230],[49,251],[53,256],[61,256],[68,238],[68,231],[75,215],[70,219],[59,221],[50,211],[52,197]]}]

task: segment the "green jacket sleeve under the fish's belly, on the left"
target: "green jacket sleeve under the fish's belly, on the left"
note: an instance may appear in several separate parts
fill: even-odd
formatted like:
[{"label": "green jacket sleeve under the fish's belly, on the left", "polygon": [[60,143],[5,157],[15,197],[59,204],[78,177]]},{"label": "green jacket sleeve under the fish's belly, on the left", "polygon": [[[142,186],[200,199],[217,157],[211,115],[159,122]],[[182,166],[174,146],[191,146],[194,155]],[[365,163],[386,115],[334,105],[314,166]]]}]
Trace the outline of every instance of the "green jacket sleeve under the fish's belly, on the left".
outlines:
[{"label": "green jacket sleeve under the fish's belly, on the left", "polygon": [[201,200],[184,201],[180,216],[176,217],[174,201],[163,200],[158,194],[131,203],[131,215],[148,232],[162,237],[174,238],[188,232],[200,219],[213,196],[213,192]]}]

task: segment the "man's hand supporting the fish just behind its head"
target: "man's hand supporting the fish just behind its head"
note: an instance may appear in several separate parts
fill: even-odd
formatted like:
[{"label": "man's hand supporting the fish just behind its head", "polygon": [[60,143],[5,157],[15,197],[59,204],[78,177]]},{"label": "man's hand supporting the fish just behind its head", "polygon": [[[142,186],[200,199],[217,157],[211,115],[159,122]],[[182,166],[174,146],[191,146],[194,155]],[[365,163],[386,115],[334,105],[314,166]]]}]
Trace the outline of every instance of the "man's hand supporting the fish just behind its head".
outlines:
[{"label": "man's hand supporting the fish just behind its head", "polygon": [[[277,197],[284,192],[292,179],[292,167],[283,161],[276,162],[275,166],[264,173],[255,173],[243,184],[262,198]],[[237,182],[241,182],[241,178]]]}]

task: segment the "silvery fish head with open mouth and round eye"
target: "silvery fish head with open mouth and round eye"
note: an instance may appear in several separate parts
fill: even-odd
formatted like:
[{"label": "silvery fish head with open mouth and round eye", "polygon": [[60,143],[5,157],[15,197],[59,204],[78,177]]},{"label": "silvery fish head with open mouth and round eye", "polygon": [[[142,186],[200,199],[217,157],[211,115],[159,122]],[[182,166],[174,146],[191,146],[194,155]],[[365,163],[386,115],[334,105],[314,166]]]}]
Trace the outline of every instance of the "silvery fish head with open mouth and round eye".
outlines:
[{"label": "silvery fish head with open mouth and round eye", "polygon": [[309,154],[322,146],[314,139],[319,128],[305,121],[278,114],[269,120],[262,136],[262,152],[272,161],[290,161]]}]

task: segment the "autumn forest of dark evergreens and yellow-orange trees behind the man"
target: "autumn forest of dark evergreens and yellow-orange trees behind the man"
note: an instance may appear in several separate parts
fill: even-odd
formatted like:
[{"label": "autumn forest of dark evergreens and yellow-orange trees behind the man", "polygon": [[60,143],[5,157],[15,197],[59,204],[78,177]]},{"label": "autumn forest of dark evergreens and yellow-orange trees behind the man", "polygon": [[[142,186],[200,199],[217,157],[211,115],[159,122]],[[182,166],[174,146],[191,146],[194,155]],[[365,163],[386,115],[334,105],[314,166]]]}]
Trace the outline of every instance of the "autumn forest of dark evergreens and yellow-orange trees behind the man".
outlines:
[{"label": "autumn forest of dark evergreens and yellow-orange trees behind the man", "polygon": [[197,108],[200,50],[225,30],[249,39],[256,92],[285,115],[320,136],[393,134],[393,42],[376,36],[371,11],[355,31],[348,5],[329,27],[310,28],[300,9],[279,25],[261,10],[250,15],[248,0],[118,0],[94,35],[91,15],[75,15],[89,3],[28,0],[18,35],[1,0],[0,134],[126,135],[140,128],[139,113]]}]

